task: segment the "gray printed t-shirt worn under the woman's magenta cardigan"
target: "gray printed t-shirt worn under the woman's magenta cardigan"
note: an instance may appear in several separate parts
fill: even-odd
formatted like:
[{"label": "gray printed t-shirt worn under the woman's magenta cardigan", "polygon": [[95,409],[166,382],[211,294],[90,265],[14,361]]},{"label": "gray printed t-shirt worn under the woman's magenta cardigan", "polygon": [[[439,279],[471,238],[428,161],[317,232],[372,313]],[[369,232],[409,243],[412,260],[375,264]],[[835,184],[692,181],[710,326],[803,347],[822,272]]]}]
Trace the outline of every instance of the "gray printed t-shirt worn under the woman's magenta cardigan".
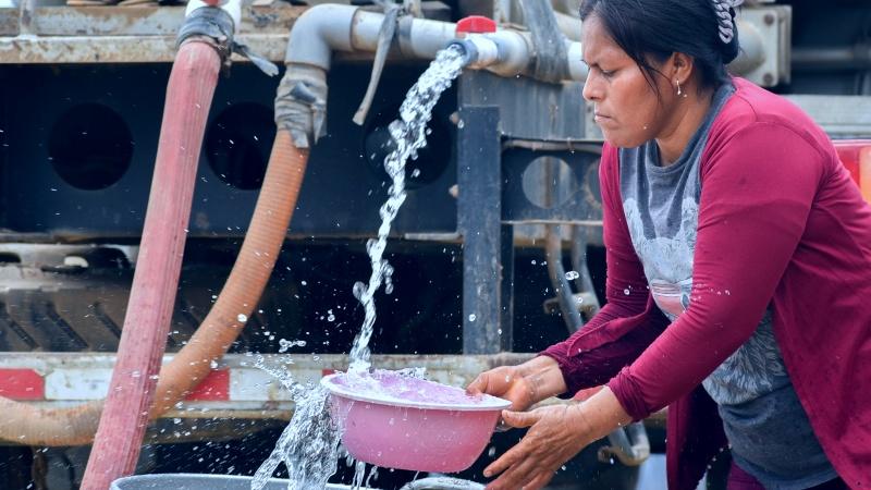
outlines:
[{"label": "gray printed t-shirt worn under the woman's magenta cardigan", "polygon": [[[655,142],[619,150],[621,194],[633,246],[657,305],[672,321],[689,307],[701,155],[714,118],[734,91],[732,84],[717,89],[706,120],[675,163],[660,164]],[[837,477],[789,381],[770,310],[702,385],[719,406],[733,458],[766,488],[805,489]]]}]

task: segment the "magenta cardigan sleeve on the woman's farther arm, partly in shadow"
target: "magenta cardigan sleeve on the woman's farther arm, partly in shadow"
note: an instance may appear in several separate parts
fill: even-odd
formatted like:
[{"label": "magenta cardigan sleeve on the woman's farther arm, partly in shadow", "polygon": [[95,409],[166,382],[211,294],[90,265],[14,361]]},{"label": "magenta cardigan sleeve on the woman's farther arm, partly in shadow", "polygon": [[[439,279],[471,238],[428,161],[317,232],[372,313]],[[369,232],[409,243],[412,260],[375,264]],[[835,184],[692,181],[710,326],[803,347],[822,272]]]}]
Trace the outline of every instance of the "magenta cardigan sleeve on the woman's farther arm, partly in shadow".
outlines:
[{"label": "magenta cardigan sleeve on the woman's farther arm, partly in shadow", "polygon": [[572,396],[601,385],[631,363],[667,324],[653,306],[641,262],[635,254],[619,195],[617,151],[605,145],[599,167],[605,245],[606,304],[568,340],[542,355],[560,366]]}]

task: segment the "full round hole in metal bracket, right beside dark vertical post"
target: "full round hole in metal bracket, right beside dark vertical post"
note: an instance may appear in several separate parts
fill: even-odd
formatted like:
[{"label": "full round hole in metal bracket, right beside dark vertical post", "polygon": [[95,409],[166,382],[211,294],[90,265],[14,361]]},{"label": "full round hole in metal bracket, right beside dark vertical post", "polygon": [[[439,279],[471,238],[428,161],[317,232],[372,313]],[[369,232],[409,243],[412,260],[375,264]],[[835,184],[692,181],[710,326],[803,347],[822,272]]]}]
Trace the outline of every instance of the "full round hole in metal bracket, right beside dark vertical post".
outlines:
[{"label": "full round hole in metal bracket, right beside dark vertical post", "polygon": [[556,157],[538,157],[523,173],[524,195],[533,205],[552,209],[567,203],[578,193],[575,172],[565,160]]}]

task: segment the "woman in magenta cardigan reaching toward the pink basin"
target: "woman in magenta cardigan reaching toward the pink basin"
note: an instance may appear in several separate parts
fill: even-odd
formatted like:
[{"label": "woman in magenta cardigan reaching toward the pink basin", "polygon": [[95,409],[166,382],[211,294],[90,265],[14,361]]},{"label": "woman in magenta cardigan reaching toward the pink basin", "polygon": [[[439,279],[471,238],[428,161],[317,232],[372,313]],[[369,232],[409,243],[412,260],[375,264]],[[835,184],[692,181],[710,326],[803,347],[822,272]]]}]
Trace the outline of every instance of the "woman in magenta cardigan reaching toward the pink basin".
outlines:
[{"label": "woman in magenta cardigan reaching toward the pink basin", "polygon": [[871,208],[805,113],[727,75],[731,7],[584,1],[608,305],[468,391],[524,411],[605,388],[504,413],[529,431],[489,489],[541,488],[666,405],[670,488],[695,488],[726,448],[733,489],[871,486]]}]

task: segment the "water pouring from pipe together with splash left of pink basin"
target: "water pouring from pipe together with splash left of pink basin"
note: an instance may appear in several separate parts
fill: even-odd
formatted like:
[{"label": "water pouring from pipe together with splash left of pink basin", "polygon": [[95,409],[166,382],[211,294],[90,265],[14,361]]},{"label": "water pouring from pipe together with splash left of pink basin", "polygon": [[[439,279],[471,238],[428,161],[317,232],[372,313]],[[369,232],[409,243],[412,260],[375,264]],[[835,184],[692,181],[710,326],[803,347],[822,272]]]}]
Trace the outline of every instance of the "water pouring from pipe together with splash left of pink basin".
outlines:
[{"label": "water pouring from pipe together with splash left of pink basin", "polygon": [[[385,291],[393,289],[391,275],[393,268],[383,258],[390,228],[405,201],[405,162],[408,158],[417,158],[417,151],[427,144],[427,122],[432,117],[432,108],[439,97],[446,90],[463,69],[463,53],[456,47],[440,51],[417,83],[408,90],[405,101],[400,108],[400,118],[390,124],[390,134],[395,149],[384,159],[384,168],[393,180],[387,203],[381,206],[381,226],[378,238],[367,243],[367,252],[372,267],[369,283],[354,284],[354,296],[363,304],[366,317],[359,334],[354,340],[351,351],[348,372],[365,373],[369,369],[369,340],[376,320],[375,293],[385,284]],[[295,344],[300,345],[300,344]],[[282,351],[286,352],[294,343],[282,342]],[[323,489],[327,481],[335,473],[340,457],[340,433],[336,424],[330,418],[329,392],[318,385],[304,385],[296,382],[286,368],[275,370],[267,367],[262,356],[258,356],[256,366],[275,377],[287,391],[296,407],[291,422],[284,429],[270,456],[260,465],[252,480],[252,490],[261,490],[278,466],[283,462],[287,467],[289,490]],[[409,371],[405,376],[420,376]],[[364,485],[366,465],[355,465],[353,489]],[[375,469],[366,479],[376,475]]]}]

